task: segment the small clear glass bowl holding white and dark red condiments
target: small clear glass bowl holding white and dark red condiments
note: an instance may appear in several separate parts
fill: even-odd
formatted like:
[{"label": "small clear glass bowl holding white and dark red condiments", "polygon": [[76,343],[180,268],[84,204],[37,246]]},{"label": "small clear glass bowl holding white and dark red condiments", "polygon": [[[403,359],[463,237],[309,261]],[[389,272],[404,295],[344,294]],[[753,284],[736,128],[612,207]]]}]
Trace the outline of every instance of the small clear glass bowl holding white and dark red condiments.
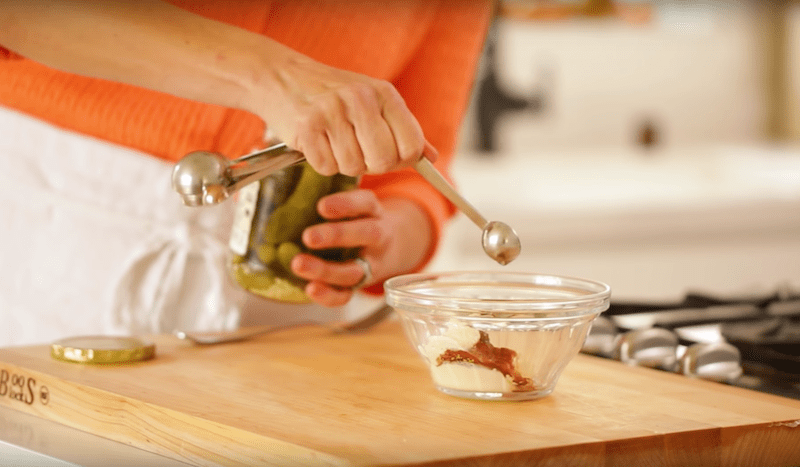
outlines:
[{"label": "small clear glass bowl holding white and dark red condiments", "polygon": [[515,272],[409,274],[384,288],[436,388],[488,400],[550,394],[611,296],[600,282]]}]

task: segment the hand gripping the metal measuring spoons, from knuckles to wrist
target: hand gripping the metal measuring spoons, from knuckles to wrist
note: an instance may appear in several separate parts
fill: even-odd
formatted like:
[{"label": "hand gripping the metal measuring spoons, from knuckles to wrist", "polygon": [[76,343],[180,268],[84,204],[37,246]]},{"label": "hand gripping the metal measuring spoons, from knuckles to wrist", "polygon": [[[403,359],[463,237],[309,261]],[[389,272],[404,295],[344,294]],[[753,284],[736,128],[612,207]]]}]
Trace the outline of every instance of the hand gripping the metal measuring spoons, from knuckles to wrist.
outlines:
[{"label": "hand gripping the metal measuring spoons, from knuckles to wrist", "polygon": [[391,83],[285,53],[255,92],[256,113],[317,172],[381,174],[422,156],[422,129]]}]

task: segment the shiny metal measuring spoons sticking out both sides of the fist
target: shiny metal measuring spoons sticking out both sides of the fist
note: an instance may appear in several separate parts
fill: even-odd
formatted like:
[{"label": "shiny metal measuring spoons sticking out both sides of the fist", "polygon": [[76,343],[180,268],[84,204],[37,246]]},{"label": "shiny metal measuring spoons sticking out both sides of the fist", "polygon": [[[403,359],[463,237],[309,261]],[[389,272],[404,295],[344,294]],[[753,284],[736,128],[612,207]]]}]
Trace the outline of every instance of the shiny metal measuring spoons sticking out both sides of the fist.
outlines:
[{"label": "shiny metal measuring spoons sticking out both sides of the fist", "polygon": [[[187,206],[217,204],[225,201],[239,188],[304,160],[301,152],[290,149],[283,143],[232,161],[213,152],[195,151],[175,164],[172,170],[172,186],[183,197]],[[430,160],[423,157],[414,168],[483,229],[483,251],[490,258],[506,265],[519,256],[522,247],[514,229],[503,222],[488,222],[445,180]]]}]

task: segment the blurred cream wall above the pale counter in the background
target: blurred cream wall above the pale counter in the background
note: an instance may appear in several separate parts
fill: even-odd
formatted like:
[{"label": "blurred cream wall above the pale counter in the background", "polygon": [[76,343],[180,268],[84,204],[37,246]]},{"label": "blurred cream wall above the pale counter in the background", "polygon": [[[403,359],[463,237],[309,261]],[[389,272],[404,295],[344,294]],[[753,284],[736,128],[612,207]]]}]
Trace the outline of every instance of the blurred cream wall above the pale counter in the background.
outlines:
[{"label": "blurred cream wall above the pale counter in the background", "polygon": [[[796,4],[616,2],[644,13],[536,15],[576,3],[500,2],[482,71],[516,106],[495,117],[492,150],[625,147],[648,132],[671,146],[800,137]],[[472,111],[465,147],[481,145]]]}]

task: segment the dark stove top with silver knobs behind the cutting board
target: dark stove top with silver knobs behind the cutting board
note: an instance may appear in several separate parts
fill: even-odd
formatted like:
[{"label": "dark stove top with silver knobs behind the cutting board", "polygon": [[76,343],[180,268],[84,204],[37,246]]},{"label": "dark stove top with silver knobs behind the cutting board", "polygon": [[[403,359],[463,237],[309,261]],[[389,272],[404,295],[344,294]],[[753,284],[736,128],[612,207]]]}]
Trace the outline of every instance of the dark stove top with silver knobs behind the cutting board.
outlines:
[{"label": "dark stove top with silver knobs behind the cutting board", "polygon": [[[702,336],[702,337],[701,337]],[[611,302],[584,353],[800,400],[800,295]]]}]

